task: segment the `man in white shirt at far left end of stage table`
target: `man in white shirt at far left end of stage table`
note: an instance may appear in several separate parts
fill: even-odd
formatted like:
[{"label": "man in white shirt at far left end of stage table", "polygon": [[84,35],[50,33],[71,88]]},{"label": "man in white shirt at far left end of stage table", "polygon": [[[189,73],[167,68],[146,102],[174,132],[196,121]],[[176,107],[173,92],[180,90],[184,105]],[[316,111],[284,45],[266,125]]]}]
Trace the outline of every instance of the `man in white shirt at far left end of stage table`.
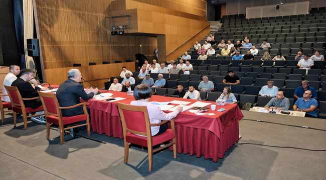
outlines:
[{"label": "man in white shirt at far left end of stage table", "polygon": [[[3,84],[3,94],[8,94],[5,85],[11,86],[14,80],[17,79],[17,76],[21,72],[21,68],[18,65],[11,65],[9,67],[10,72],[5,76]],[[7,95],[1,97],[3,101],[10,102],[10,98]]]}]

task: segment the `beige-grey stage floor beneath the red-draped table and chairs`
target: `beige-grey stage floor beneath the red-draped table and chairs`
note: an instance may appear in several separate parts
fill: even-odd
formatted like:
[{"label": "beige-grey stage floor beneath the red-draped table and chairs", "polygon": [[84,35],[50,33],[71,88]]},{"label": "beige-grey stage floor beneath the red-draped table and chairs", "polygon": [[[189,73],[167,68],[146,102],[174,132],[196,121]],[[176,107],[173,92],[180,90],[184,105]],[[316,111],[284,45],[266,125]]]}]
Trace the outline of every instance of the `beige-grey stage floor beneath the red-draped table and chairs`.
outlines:
[{"label": "beige-grey stage floor beneath the red-draped table and chairs", "polygon": [[[257,122],[304,125],[326,129],[325,119],[288,117],[244,112],[239,142],[326,149],[326,131]],[[272,115],[272,116],[270,116]],[[123,162],[123,140],[92,133],[106,141],[77,138],[60,145],[59,138],[46,140],[45,125],[30,121],[17,128],[8,116],[0,126],[0,179],[326,179],[326,152],[234,144],[225,157],[213,162],[196,155],[164,150],[153,156],[149,172],[147,153],[132,147],[129,163]],[[51,130],[51,137],[58,132]],[[66,135],[65,140],[70,136]]]}]

